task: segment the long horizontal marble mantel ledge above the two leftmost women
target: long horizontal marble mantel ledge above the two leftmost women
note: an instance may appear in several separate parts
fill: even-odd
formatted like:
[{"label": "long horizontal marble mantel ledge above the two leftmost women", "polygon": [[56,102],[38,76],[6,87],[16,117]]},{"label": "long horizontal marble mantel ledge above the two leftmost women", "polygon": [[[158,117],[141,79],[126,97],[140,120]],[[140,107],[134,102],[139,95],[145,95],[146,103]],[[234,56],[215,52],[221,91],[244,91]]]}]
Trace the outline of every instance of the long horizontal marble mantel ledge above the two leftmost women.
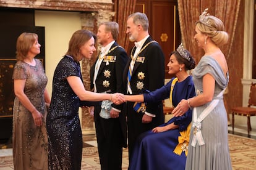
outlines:
[{"label": "long horizontal marble mantel ledge above the two leftmost women", "polygon": [[[110,0],[111,1],[111,0]],[[47,10],[67,10],[67,11],[98,11],[113,10],[113,2],[109,0],[98,0],[90,2],[88,0],[0,0],[0,7],[18,7]]]}]

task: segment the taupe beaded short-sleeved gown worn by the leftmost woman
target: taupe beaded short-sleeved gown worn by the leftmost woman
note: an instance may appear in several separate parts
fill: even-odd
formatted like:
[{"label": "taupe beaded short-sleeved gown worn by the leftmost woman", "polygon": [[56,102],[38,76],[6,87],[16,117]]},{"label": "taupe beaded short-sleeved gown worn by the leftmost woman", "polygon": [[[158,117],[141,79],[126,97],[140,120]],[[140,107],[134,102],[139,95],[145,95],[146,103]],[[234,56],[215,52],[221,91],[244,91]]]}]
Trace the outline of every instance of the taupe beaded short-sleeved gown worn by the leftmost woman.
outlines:
[{"label": "taupe beaded short-sleeved gown worn by the leftmost woman", "polygon": [[12,79],[26,79],[24,93],[41,114],[43,125],[35,126],[32,113],[23,107],[18,97],[14,99],[13,114],[13,158],[14,168],[48,169],[48,140],[46,133],[45,87],[47,78],[40,60],[35,59],[36,65],[17,62]]}]

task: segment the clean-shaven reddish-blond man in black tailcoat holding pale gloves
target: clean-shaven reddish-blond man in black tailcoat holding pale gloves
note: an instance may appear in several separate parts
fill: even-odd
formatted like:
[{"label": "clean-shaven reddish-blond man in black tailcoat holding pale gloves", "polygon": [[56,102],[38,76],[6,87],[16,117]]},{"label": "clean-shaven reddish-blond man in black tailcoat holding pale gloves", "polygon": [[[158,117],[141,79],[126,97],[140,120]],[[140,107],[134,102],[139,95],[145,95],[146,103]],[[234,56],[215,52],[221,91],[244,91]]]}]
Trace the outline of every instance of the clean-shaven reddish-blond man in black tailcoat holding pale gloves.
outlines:
[{"label": "clean-shaven reddish-blond man in black tailcoat holding pale gloves", "polygon": [[[124,93],[122,75],[127,63],[127,53],[118,46],[116,39],[119,25],[116,22],[104,22],[98,27],[98,42],[101,52],[91,68],[91,88],[98,93]],[[98,153],[102,170],[122,169],[122,147],[126,142],[126,116],[123,105],[115,105],[110,100],[99,102],[91,107],[94,110]]]}]

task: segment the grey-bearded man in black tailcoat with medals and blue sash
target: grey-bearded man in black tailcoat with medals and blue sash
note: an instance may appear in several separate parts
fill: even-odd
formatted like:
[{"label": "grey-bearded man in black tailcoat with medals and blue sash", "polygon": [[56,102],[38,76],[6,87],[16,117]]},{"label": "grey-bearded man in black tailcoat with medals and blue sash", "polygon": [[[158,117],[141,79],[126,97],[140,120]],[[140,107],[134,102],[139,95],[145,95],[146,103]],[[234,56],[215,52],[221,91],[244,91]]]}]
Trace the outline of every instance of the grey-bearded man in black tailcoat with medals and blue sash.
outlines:
[{"label": "grey-bearded man in black tailcoat with medals and blue sash", "polygon": [[[164,85],[164,54],[158,42],[148,34],[147,15],[140,12],[130,15],[126,33],[130,41],[135,41],[124,69],[127,94],[142,94],[160,88]],[[163,102],[127,102],[126,114],[130,161],[137,137],[164,123]]]}]

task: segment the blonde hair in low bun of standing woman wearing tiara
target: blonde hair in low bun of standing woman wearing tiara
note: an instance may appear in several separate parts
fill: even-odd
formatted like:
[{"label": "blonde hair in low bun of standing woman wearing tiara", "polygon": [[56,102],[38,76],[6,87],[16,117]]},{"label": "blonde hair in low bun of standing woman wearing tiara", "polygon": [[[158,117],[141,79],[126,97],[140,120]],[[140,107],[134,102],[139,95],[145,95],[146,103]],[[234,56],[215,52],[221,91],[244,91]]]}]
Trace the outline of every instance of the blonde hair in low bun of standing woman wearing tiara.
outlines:
[{"label": "blonde hair in low bun of standing woman wearing tiara", "polygon": [[208,15],[207,23],[208,25],[198,20],[195,25],[200,32],[207,34],[217,46],[226,44],[228,42],[228,33],[224,31],[223,22],[217,17]]}]

